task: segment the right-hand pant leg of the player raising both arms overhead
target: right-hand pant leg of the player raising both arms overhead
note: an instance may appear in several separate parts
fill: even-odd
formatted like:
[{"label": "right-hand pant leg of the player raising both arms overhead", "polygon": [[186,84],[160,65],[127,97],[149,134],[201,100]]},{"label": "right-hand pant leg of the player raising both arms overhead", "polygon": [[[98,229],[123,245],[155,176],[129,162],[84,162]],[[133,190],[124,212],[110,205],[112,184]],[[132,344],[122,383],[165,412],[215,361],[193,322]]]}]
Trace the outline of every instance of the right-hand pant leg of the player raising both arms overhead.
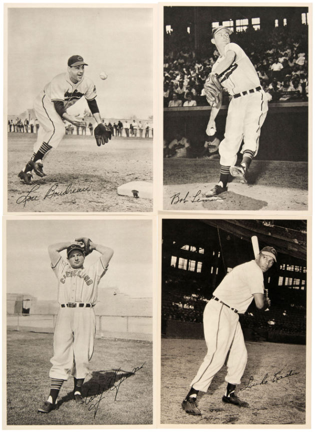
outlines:
[{"label": "right-hand pant leg of the player raising both arms overhead", "polygon": [[93,355],[96,318],[92,307],[76,308],[74,313],[74,366],[72,374],[85,378]]}]

